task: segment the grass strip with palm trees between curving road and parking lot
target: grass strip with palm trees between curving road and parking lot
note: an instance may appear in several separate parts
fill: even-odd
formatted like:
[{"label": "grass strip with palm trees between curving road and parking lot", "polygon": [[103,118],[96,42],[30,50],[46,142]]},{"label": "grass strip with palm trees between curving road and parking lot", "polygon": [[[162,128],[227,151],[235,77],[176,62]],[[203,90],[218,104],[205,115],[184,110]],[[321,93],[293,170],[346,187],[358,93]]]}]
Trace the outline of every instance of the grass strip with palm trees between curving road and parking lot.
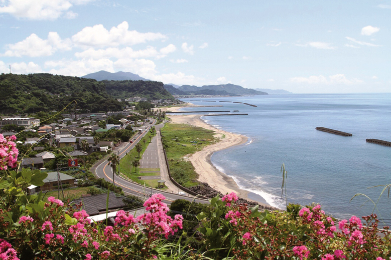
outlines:
[{"label": "grass strip with palm trees between curving road and parking lot", "polygon": [[[143,156],[145,150],[148,147],[148,144],[150,143],[150,138],[149,138],[150,136],[154,136],[154,135],[151,134],[151,132],[148,132],[148,134],[146,134],[139,142],[143,148],[143,150],[140,152],[140,158],[139,158],[139,153],[136,151],[136,148],[133,148],[119,161],[120,172],[122,174],[124,174],[126,177],[128,177],[129,179],[131,179],[137,183],[140,183],[140,184],[144,184],[144,181],[139,180],[138,176],[155,175],[156,174],[156,173],[152,173],[152,174],[151,173],[142,173],[142,174],[140,174],[140,171],[145,171],[146,168],[137,167],[137,172],[136,172],[135,167],[132,165],[132,162],[135,159],[140,160],[141,157]],[[144,147],[144,142],[143,142],[144,139],[147,140],[146,147]],[[160,175],[160,173],[158,173],[157,175]]]}]

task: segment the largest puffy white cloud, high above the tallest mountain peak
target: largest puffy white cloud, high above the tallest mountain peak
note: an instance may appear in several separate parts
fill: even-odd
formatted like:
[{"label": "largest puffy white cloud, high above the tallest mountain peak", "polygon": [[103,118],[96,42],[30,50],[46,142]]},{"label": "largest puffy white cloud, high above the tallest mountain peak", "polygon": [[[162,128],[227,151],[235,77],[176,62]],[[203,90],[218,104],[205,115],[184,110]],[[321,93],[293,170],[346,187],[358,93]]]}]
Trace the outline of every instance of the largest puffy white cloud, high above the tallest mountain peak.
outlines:
[{"label": "largest puffy white cloud, high above the tallest mountain peak", "polygon": [[139,33],[137,31],[128,31],[128,28],[127,22],[122,22],[117,27],[112,27],[110,31],[107,31],[103,25],[85,27],[72,36],[72,41],[80,46],[116,47],[167,39],[167,36],[161,33]]}]

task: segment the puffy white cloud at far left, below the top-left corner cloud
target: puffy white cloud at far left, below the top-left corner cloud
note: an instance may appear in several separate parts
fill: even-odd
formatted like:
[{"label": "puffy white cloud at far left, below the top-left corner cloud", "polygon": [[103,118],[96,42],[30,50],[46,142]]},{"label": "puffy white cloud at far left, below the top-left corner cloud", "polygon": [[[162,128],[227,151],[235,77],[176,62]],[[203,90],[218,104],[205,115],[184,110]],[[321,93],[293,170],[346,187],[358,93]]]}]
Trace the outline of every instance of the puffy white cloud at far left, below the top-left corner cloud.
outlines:
[{"label": "puffy white cloud at far left, below the top-left corner cloud", "polygon": [[50,56],[57,50],[71,50],[71,42],[69,39],[61,40],[60,36],[55,32],[48,34],[48,39],[43,40],[36,34],[32,34],[25,40],[6,46],[7,51],[2,56],[9,57],[43,57]]}]

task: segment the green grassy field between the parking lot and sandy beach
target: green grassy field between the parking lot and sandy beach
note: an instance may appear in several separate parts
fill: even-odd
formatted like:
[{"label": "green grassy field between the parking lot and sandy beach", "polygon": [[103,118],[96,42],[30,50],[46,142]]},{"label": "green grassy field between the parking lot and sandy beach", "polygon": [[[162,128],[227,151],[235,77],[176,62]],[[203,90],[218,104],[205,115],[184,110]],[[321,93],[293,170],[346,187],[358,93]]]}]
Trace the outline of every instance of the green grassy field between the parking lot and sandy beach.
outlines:
[{"label": "green grassy field between the parking lot and sandy beach", "polygon": [[185,156],[218,142],[214,132],[187,124],[166,124],[162,128],[162,139],[169,161],[171,176],[185,187],[198,184],[198,174]]}]

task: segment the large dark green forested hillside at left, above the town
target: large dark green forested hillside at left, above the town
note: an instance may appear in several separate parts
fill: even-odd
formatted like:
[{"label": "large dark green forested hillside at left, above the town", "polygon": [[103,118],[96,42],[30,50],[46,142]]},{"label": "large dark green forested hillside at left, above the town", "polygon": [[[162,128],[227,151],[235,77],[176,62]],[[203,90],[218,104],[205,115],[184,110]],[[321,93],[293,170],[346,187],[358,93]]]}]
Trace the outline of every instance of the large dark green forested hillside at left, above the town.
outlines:
[{"label": "large dark green forested hillside at left, above the town", "polygon": [[60,111],[75,100],[81,112],[122,110],[105,86],[93,79],[52,74],[0,75],[0,113]]}]

